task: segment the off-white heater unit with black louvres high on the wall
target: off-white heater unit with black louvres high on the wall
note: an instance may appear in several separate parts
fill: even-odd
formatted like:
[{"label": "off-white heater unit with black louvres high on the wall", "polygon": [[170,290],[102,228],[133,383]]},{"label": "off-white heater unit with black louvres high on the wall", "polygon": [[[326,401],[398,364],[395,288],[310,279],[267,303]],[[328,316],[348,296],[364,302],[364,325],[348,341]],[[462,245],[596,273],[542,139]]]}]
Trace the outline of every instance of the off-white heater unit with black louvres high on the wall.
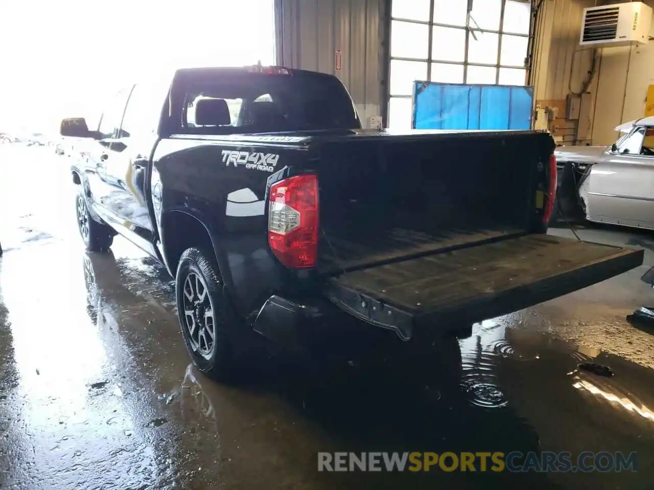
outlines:
[{"label": "off-white heater unit with black louvres high on the wall", "polygon": [[584,8],[579,44],[589,48],[647,44],[651,22],[652,8],[642,2]]}]

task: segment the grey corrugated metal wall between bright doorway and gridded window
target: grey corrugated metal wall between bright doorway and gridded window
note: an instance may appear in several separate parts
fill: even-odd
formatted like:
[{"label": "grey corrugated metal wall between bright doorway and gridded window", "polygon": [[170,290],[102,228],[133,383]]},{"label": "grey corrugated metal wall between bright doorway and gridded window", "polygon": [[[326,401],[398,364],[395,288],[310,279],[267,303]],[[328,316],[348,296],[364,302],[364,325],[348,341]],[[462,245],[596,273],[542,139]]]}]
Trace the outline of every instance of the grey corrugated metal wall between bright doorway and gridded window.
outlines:
[{"label": "grey corrugated metal wall between bright doorway and gridded window", "polygon": [[[386,98],[385,0],[276,0],[277,63],[335,74],[362,122],[381,114]],[[336,50],[341,70],[336,70]]]}]

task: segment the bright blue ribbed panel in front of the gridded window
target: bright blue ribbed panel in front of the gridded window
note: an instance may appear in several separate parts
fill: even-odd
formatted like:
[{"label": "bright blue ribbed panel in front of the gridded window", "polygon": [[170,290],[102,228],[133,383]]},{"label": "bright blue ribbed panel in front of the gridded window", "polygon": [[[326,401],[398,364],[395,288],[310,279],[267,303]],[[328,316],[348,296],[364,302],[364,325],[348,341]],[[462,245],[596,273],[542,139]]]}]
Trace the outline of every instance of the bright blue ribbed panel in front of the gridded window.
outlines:
[{"label": "bright blue ribbed panel in front of the gridded window", "polygon": [[415,82],[414,129],[531,129],[534,88]]}]

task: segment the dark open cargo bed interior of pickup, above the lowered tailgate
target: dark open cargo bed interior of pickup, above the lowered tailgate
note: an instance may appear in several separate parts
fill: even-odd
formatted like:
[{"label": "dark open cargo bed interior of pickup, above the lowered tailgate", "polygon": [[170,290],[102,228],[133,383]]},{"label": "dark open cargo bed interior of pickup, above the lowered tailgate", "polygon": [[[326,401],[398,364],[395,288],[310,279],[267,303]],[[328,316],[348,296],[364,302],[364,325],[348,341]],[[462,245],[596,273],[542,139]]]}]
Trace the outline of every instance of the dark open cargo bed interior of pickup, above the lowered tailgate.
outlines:
[{"label": "dark open cargo bed interior of pickup, above the lowered tailgate", "polygon": [[[540,222],[551,137],[382,137],[324,144],[318,270],[334,274],[515,237]],[[481,156],[483,155],[483,157]],[[321,165],[324,159],[324,165]]]}]

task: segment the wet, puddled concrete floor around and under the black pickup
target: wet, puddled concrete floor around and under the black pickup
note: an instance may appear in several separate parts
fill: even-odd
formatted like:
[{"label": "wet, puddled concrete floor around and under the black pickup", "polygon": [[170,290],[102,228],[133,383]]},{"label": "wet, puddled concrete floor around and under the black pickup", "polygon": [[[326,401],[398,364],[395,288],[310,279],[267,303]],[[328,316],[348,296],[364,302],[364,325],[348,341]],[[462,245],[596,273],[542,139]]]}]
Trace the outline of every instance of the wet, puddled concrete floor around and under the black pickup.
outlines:
[{"label": "wet, puddled concrete floor around and under the black pickup", "polygon": [[[160,266],[121,238],[84,252],[68,165],[0,148],[1,488],[654,486],[654,333],[625,321],[654,303],[639,280],[651,251],[460,342],[407,348],[335,326],[311,360],[259,359],[222,385],[190,365]],[[579,233],[654,249],[648,233]],[[318,451],[636,451],[638,472],[330,473]]]}]

